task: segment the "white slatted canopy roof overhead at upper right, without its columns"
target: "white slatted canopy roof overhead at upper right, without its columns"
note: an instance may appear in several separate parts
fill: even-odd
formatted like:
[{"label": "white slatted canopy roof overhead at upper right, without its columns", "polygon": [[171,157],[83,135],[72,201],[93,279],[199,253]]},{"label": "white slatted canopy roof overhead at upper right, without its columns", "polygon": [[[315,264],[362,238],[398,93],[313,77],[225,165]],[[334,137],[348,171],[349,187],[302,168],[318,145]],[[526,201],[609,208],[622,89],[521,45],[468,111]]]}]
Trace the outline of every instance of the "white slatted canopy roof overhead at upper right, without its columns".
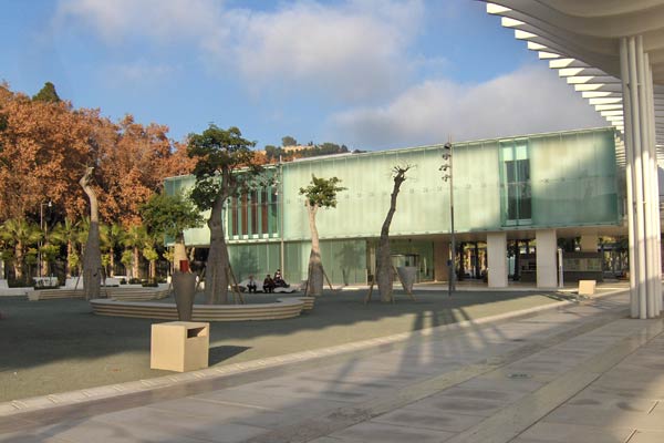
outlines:
[{"label": "white slatted canopy roof overhead at upper right, without its columns", "polygon": [[551,69],[624,131],[620,38],[642,35],[654,83],[657,156],[664,157],[664,0],[491,0],[502,17]]}]

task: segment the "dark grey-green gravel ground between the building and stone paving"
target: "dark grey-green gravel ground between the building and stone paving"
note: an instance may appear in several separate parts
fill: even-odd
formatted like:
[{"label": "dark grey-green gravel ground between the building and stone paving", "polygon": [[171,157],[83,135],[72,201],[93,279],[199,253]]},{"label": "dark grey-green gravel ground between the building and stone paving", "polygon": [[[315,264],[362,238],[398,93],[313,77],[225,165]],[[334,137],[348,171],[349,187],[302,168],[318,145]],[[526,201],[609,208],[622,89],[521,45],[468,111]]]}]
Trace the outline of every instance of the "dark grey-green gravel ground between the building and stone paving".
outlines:
[{"label": "dark grey-green gravel ground between the building and stone paving", "polygon": [[[210,324],[210,365],[222,365],[478,319],[560,300],[544,292],[415,290],[417,301],[363,305],[366,290],[326,291],[288,320]],[[283,295],[277,295],[282,297]],[[295,295],[297,296],[297,295]],[[249,302],[277,298],[247,296]],[[374,300],[376,295],[374,295]],[[149,369],[155,320],[97,317],[83,300],[0,298],[0,401],[164,375]]]}]

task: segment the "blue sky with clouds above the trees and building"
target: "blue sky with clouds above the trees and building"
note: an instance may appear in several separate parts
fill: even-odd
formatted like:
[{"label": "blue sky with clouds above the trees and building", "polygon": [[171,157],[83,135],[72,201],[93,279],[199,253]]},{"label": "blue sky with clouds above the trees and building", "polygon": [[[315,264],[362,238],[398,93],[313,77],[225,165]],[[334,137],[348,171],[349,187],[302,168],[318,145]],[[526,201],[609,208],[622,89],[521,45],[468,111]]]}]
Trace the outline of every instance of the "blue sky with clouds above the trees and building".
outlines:
[{"label": "blue sky with clouds above the trees and building", "polygon": [[475,0],[0,0],[0,81],[280,145],[387,150],[605,126]]}]

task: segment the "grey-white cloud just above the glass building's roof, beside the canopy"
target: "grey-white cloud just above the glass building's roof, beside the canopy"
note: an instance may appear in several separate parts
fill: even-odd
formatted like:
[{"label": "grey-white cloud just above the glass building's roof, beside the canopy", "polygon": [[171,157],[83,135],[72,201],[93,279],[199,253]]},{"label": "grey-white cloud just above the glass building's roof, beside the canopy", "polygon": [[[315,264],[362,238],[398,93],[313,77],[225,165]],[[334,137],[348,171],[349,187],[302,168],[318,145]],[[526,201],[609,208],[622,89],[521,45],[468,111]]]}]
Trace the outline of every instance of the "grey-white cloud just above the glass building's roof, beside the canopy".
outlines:
[{"label": "grey-white cloud just above the glass building's roof, beside the canopy", "polygon": [[605,125],[579,93],[537,65],[475,85],[426,81],[385,106],[338,113],[328,126],[346,144],[377,148]]}]

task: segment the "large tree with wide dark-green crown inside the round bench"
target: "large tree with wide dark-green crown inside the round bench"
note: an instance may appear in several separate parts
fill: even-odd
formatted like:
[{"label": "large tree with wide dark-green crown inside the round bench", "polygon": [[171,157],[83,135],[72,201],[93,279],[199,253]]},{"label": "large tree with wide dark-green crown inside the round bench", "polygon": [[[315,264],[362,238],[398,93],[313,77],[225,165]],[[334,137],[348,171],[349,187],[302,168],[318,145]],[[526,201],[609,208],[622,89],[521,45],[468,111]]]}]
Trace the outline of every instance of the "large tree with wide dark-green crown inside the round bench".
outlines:
[{"label": "large tree with wide dark-green crown inside the round bench", "polygon": [[191,199],[200,210],[210,210],[207,220],[210,249],[205,276],[208,303],[228,302],[230,268],[221,215],[228,197],[255,185],[257,176],[262,172],[250,150],[253,146],[253,142],[242,138],[237,127],[221,130],[210,124],[203,134],[189,136],[188,154],[196,158],[196,183],[191,189]]}]

